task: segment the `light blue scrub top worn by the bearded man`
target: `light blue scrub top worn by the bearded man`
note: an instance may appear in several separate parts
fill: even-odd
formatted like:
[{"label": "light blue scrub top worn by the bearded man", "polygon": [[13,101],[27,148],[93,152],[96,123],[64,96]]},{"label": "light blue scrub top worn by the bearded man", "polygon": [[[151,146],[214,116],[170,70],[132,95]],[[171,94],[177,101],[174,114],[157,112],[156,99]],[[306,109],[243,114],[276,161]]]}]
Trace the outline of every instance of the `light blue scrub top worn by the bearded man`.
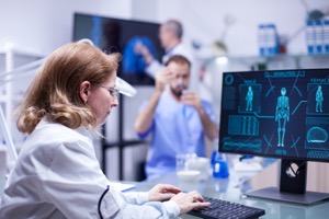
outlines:
[{"label": "light blue scrub top worn by the bearded man", "polygon": [[[141,106],[141,111],[146,106]],[[202,101],[205,113],[215,123],[215,114],[208,102]],[[157,105],[151,126],[140,138],[151,134],[146,164],[147,178],[160,176],[175,169],[175,154],[196,153],[205,157],[205,135],[194,106],[178,103],[164,92]]]}]

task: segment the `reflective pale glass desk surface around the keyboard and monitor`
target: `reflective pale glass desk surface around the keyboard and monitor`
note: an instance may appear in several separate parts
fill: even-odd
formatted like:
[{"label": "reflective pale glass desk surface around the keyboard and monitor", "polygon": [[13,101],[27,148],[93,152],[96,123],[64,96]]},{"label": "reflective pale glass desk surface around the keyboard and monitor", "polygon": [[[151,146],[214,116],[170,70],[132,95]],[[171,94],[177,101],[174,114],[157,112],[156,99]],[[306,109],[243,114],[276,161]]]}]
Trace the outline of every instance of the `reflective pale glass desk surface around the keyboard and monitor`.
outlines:
[{"label": "reflective pale glass desk surface around the keyboard and monitor", "polygon": [[[206,181],[198,182],[182,182],[175,176],[175,173],[169,173],[157,180],[140,182],[136,184],[136,191],[149,191],[154,185],[158,183],[168,183],[179,186],[183,191],[196,189],[204,196],[226,199],[235,203],[240,203],[247,206],[253,206],[265,210],[263,219],[328,219],[329,218],[329,200],[320,201],[316,205],[304,206],[294,205],[288,203],[280,203],[269,199],[245,197],[243,192],[253,189],[251,180],[257,180],[258,176],[262,176],[263,172],[272,171],[271,169],[264,169],[261,174],[249,173],[241,174],[238,172],[230,172],[228,178],[213,178],[208,177]],[[261,178],[259,178],[261,181]],[[182,218],[195,218],[193,216],[184,215]]]}]

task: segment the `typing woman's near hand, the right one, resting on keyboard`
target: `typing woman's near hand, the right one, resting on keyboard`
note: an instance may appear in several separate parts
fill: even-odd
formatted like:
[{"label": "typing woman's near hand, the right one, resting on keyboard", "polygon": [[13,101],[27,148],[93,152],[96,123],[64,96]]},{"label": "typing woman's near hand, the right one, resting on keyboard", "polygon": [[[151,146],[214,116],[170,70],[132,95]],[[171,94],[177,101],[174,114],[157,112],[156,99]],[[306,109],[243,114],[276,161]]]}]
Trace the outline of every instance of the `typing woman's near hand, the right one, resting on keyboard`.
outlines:
[{"label": "typing woman's near hand, the right one, resting on keyboard", "polygon": [[195,208],[205,208],[211,206],[211,203],[205,203],[203,197],[196,192],[179,193],[170,200],[175,201],[180,208],[180,214],[186,214]]}]

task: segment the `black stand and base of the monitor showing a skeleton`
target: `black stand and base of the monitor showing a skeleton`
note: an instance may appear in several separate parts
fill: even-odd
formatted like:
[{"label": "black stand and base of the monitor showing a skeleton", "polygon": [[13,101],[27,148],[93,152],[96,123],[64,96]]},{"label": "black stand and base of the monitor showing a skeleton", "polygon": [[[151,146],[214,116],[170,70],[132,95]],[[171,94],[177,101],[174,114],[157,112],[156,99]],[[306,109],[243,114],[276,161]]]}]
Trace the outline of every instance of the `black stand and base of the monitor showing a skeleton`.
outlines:
[{"label": "black stand and base of the monitor showing a skeleton", "polygon": [[[296,170],[293,170],[293,164],[297,165]],[[266,187],[245,195],[303,205],[311,205],[329,198],[329,194],[326,193],[307,192],[306,180],[307,161],[282,159],[280,188]]]}]

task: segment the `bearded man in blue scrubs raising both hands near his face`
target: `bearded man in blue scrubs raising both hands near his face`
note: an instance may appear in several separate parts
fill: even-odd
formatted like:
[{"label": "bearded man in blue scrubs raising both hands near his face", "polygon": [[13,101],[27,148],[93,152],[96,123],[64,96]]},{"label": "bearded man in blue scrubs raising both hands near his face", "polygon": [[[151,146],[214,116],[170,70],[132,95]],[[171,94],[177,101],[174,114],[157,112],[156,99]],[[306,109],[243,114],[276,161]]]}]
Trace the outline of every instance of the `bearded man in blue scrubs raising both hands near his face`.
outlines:
[{"label": "bearded man in blue scrubs raising both hands near his face", "polygon": [[188,58],[171,56],[166,67],[156,73],[155,92],[141,105],[135,122],[140,138],[152,135],[145,169],[148,180],[174,171],[175,154],[206,157],[205,137],[217,138],[212,105],[188,90],[190,70]]}]

